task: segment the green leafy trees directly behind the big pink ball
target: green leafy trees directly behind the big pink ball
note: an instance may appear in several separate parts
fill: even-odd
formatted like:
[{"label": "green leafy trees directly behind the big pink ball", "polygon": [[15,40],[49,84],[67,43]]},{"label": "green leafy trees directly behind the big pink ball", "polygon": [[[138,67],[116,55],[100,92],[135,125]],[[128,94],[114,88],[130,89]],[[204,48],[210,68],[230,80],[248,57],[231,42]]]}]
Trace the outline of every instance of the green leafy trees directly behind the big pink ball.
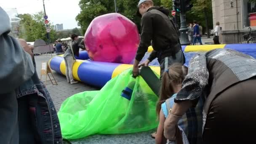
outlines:
[{"label": "green leafy trees directly behind the big pink ball", "polygon": [[[160,5],[160,0],[154,0],[155,5]],[[140,29],[140,18],[136,16],[138,1],[136,0],[117,0],[118,13],[131,19]],[[81,0],[79,3],[81,8],[76,20],[85,33],[91,21],[103,14],[115,12],[114,0]]]}]

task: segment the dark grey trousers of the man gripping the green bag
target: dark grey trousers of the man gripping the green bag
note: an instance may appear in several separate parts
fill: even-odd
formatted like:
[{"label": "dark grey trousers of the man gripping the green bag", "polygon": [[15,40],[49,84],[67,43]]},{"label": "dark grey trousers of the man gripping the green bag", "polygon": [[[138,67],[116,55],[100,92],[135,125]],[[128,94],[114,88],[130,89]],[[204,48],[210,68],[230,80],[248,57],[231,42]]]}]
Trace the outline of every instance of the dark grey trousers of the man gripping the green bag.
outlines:
[{"label": "dark grey trousers of the man gripping the green bag", "polygon": [[162,80],[163,72],[165,69],[168,69],[173,63],[181,63],[184,64],[183,52],[180,50],[176,53],[176,59],[173,56],[165,57],[160,62],[160,80]]}]

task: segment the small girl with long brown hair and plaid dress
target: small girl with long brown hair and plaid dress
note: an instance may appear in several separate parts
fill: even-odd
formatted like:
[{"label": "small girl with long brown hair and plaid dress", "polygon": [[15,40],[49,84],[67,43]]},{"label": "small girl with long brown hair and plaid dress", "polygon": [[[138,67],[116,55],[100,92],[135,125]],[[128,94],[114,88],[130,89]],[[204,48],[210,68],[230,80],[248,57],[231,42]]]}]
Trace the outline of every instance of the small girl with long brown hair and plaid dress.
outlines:
[{"label": "small girl with long brown hair and plaid dress", "polygon": [[[157,114],[159,115],[159,125],[155,135],[156,144],[166,144],[163,136],[163,126],[169,109],[174,104],[174,98],[181,89],[181,83],[187,75],[187,67],[176,63],[171,65],[164,73],[160,99],[157,104]],[[171,96],[171,98],[170,98]],[[190,108],[179,120],[178,125],[186,134],[189,144],[202,144],[203,125],[203,98],[200,99],[195,108]]]}]

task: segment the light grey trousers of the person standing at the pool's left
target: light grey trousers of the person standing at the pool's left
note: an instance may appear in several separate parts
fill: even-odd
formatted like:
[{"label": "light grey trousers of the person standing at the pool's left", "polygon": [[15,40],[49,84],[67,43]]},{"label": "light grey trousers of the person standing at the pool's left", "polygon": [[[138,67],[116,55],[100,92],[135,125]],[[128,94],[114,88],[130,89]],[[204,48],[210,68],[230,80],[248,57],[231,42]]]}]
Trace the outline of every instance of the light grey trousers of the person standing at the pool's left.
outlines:
[{"label": "light grey trousers of the person standing at the pool's left", "polygon": [[72,68],[73,68],[73,64],[74,64],[75,60],[73,59],[72,56],[65,56],[64,61],[65,61],[65,65],[66,65],[67,82],[73,83],[73,82],[75,82],[75,80],[73,78]]}]

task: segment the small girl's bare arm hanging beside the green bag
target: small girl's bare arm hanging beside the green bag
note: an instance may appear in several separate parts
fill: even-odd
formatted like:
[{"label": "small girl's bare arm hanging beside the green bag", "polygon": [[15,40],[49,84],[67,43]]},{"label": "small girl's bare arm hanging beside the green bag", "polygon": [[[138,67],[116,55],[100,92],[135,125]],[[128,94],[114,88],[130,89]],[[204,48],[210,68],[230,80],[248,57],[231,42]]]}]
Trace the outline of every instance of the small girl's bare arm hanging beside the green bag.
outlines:
[{"label": "small girl's bare arm hanging beside the green bag", "polygon": [[163,125],[165,123],[165,116],[163,114],[162,109],[160,110],[160,114],[159,114],[159,125],[157,128],[157,133],[155,135],[155,143],[156,144],[164,144],[166,143],[166,141],[162,141],[163,137]]}]

